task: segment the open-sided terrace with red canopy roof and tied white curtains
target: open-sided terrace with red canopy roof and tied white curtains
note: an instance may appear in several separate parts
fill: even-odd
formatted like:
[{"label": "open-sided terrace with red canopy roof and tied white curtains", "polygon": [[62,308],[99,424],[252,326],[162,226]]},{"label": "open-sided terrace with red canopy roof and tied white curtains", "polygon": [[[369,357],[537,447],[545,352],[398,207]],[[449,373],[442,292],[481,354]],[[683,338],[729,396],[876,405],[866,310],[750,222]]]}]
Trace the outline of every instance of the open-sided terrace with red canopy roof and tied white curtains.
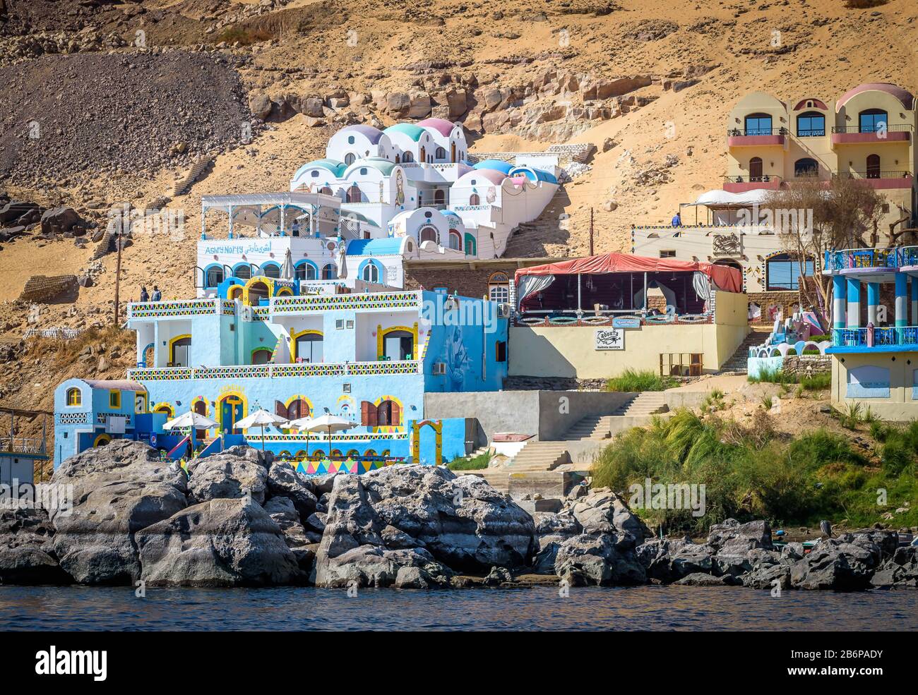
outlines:
[{"label": "open-sided terrace with red canopy roof and tied white curtains", "polygon": [[[682,314],[705,310],[711,287],[742,292],[739,270],[713,263],[651,259],[607,253],[522,268],[515,275],[521,311],[581,311],[601,306],[613,311],[646,310],[648,289],[660,288],[667,305]],[[527,300],[527,298],[529,298]],[[608,304],[608,306],[607,306]]]}]

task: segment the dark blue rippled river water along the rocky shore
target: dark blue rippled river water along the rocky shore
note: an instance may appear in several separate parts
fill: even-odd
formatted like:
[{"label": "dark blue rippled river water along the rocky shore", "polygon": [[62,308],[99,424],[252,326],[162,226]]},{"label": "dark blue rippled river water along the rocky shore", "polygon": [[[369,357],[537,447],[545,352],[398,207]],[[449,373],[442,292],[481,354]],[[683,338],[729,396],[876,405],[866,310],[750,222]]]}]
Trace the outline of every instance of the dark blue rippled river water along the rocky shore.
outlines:
[{"label": "dark blue rippled river water along the rocky shore", "polygon": [[918,630],[918,590],[0,587],[5,630]]}]

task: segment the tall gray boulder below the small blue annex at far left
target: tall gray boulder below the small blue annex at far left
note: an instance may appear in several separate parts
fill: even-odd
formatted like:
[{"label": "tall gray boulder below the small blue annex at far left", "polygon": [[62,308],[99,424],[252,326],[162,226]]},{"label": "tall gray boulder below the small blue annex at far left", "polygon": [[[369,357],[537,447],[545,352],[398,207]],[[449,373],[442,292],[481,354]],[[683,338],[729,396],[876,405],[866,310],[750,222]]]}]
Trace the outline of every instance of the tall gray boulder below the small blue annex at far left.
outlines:
[{"label": "tall gray boulder below the small blue annex at far left", "polygon": [[134,540],[141,528],[187,506],[185,473],[156,449],[127,439],[66,459],[52,483],[73,486],[73,508],[50,512],[53,550],[81,584],[129,584],[140,577]]}]

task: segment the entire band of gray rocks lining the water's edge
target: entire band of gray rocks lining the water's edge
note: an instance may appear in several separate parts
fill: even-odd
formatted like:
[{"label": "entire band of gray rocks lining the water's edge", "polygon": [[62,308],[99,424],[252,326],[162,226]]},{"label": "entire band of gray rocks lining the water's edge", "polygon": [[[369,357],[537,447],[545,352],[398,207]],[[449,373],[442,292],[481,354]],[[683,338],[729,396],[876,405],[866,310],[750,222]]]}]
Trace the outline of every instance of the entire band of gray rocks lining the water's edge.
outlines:
[{"label": "entire band of gray rocks lining the water's edge", "polygon": [[652,537],[621,497],[577,488],[530,514],[476,476],[393,466],[309,478],[234,447],[187,480],[127,440],[64,462],[72,508],[0,512],[0,584],[449,589],[470,586],[918,586],[918,547],[866,529],[772,546],[764,521],[728,519],[703,544]]}]

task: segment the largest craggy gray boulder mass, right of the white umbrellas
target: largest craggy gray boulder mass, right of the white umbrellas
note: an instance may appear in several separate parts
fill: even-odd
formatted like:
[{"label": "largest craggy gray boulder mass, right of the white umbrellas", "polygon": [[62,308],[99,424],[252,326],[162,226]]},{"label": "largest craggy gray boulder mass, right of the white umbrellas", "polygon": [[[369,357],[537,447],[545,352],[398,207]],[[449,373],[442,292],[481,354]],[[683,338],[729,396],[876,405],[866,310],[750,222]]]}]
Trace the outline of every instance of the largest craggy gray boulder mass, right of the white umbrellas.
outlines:
[{"label": "largest craggy gray boulder mass, right of the white umbrellas", "polygon": [[525,565],[532,517],[485,480],[439,467],[391,466],[334,479],[313,579],[317,586],[441,584],[453,570]]}]

